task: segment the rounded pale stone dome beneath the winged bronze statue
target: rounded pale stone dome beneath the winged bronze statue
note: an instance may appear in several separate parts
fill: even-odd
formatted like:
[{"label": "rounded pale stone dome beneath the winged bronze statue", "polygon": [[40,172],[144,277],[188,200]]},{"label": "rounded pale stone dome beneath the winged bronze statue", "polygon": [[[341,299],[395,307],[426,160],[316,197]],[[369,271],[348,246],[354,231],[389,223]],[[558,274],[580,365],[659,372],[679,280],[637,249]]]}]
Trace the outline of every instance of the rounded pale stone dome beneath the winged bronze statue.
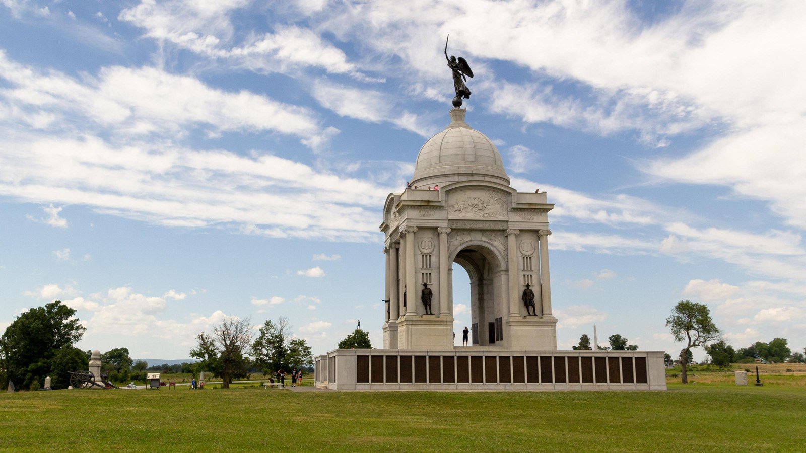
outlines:
[{"label": "rounded pale stone dome beneath the winged bronze statue", "polygon": [[411,185],[490,181],[509,185],[496,145],[464,122],[464,109],[451,109],[451,123],[422,145]]}]

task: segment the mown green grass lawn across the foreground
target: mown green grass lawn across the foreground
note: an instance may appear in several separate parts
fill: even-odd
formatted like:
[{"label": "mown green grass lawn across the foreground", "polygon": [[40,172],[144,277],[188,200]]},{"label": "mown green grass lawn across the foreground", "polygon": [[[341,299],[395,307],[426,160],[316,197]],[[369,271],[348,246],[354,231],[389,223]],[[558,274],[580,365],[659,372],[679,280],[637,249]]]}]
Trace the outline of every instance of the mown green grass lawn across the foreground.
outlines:
[{"label": "mown green grass lawn across the foreground", "polygon": [[2,393],[0,433],[15,451],[804,451],[806,389]]}]

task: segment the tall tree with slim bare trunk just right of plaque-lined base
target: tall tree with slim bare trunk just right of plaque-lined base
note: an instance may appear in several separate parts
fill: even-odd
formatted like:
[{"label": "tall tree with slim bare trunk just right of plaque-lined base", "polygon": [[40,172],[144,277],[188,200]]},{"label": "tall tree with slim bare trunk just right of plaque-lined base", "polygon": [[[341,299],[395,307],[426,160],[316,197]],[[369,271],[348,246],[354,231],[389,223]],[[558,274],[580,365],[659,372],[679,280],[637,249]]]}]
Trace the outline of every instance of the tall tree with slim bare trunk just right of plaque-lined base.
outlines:
[{"label": "tall tree with slim bare trunk just right of plaque-lined base", "polygon": [[666,319],[666,325],[671,329],[671,335],[675,336],[675,341],[686,343],[680,350],[680,376],[683,384],[688,384],[688,352],[693,347],[720,339],[721,332],[711,319],[708,305],[692,301],[679,301]]}]

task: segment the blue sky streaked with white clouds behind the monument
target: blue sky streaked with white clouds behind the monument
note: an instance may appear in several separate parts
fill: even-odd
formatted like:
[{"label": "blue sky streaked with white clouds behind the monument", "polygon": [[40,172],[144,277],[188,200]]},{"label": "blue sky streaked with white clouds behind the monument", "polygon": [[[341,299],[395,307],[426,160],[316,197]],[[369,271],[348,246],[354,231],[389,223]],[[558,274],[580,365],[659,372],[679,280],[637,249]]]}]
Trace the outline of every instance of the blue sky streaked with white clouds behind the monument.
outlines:
[{"label": "blue sky streaked with white clouds behind the monument", "polygon": [[559,348],[596,323],[676,355],[691,299],[735,347],[800,350],[804,22],[798,1],[0,0],[0,328],[60,299],[80,347],[135,357],[185,358],[226,314],[286,316],[314,353],[360,319],[380,346],[380,210],[449,121],[450,33],[467,122],[556,204]]}]

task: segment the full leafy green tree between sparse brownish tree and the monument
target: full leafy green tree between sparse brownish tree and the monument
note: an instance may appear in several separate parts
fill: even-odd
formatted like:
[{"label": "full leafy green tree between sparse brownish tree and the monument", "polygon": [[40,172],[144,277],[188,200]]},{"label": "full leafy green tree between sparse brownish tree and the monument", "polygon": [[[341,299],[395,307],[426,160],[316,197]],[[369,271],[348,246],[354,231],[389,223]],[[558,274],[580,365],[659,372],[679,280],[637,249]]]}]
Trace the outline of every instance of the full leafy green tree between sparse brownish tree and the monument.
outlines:
[{"label": "full leafy green tree between sparse brownish tree and the monument", "polygon": [[276,322],[267,320],[260,327],[260,335],[251,345],[255,364],[264,374],[280,370],[291,372],[293,368],[314,364],[314,355],[304,339],[291,335],[289,318],[280,317]]}]

